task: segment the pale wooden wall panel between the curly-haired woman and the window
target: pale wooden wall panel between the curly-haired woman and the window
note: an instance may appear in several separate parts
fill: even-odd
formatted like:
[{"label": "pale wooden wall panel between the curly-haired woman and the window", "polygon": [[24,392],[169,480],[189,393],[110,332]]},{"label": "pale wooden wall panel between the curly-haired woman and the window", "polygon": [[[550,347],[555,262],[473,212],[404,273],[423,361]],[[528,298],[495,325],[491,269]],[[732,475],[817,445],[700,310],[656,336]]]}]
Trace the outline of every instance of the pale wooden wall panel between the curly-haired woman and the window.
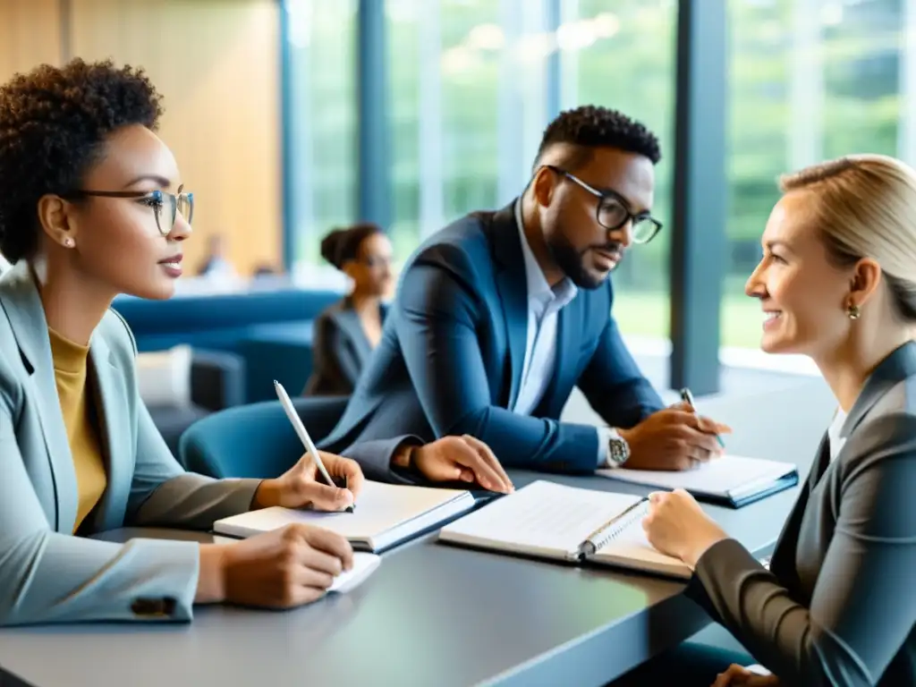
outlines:
[{"label": "pale wooden wall panel between the curly-haired woman and the window", "polygon": [[244,274],[282,263],[278,12],[276,0],[71,0],[71,55],[142,66],[163,95],[159,136],[195,196],[190,269],[212,234]]}]

